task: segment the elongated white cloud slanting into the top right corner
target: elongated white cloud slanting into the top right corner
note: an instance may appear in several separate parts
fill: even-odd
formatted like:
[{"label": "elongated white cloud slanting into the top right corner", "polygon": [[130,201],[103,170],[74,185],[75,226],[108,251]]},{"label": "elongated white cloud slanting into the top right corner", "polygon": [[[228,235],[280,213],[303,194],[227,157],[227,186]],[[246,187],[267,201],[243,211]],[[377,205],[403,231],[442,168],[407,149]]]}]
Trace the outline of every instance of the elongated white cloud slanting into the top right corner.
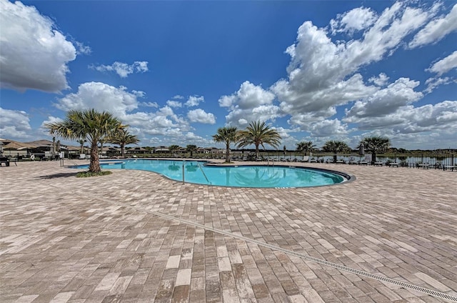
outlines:
[{"label": "elongated white cloud slanting into the top right corner", "polygon": [[453,6],[451,12],[446,16],[433,19],[426,26],[418,31],[408,46],[413,49],[426,44],[434,44],[447,34],[457,30],[457,4]]}]

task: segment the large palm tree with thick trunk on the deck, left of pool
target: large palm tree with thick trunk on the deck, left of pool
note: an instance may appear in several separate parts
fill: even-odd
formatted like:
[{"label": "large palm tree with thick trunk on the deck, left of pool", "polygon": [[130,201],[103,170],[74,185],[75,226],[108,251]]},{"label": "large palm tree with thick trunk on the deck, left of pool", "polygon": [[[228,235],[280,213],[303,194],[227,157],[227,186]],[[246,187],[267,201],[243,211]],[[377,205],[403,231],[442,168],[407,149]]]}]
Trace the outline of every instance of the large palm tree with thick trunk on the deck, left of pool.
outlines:
[{"label": "large palm tree with thick trunk on the deck, left of pool", "polygon": [[66,114],[64,121],[44,125],[49,133],[57,134],[64,139],[86,138],[91,144],[91,163],[89,172],[101,172],[98,145],[104,136],[111,136],[122,128],[121,121],[108,111],[95,109],[72,109]]}]

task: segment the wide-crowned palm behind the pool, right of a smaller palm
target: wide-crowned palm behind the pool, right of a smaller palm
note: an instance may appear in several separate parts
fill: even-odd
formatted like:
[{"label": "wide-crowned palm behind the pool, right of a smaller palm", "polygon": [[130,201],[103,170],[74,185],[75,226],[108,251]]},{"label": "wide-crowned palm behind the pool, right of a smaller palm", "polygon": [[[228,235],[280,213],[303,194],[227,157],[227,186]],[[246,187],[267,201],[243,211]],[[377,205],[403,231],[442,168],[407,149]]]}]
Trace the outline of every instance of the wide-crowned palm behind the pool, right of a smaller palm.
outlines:
[{"label": "wide-crowned palm behind the pool, right of a smaller palm", "polygon": [[281,136],[276,129],[271,129],[265,122],[253,121],[245,130],[238,131],[238,147],[245,147],[251,144],[256,146],[256,158],[258,158],[258,146],[265,149],[264,144],[278,147]]}]

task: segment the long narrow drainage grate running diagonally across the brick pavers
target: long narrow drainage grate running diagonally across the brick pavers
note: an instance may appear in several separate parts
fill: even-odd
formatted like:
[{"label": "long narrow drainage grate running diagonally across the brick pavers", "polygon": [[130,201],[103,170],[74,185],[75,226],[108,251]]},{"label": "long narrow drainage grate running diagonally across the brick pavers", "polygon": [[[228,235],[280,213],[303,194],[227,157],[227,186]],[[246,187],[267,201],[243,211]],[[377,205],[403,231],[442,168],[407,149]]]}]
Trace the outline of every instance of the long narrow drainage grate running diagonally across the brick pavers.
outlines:
[{"label": "long narrow drainage grate running diagonally across the brick pavers", "polygon": [[[116,203],[116,204],[118,204],[118,203]],[[261,242],[261,241],[258,241],[256,239],[250,239],[250,238],[247,238],[247,237],[243,237],[243,236],[240,236],[238,234],[232,234],[231,232],[226,232],[226,231],[221,230],[221,229],[216,229],[214,227],[209,227],[209,226],[204,225],[204,224],[199,224],[199,223],[196,223],[196,222],[188,221],[186,219],[180,219],[180,218],[172,217],[172,216],[169,216],[168,214],[161,214],[159,212],[151,212],[151,211],[148,211],[146,209],[141,209],[139,207],[126,206],[125,204],[119,204],[119,205],[124,206],[124,207],[130,207],[130,208],[136,209],[139,212],[147,212],[149,214],[154,214],[157,217],[163,217],[163,218],[166,218],[166,219],[179,221],[179,222],[184,223],[184,224],[189,224],[189,225],[194,226],[194,227],[200,227],[202,229],[211,230],[211,232],[216,232],[218,234],[224,234],[224,235],[232,237],[232,238],[236,238],[236,239],[240,239],[240,240],[243,240],[243,241],[246,241],[246,242],[257,244],[258,246],[261,246],[261,247],[266,247],[266,248],[269,248],[269,249],[272,249],[272,250],[276,250],[278,252],[283,252],[284,254],[289,254],[291,256],[299,257],[301,259],[306,259],[308,261],[315,262],[315,263],[322,264],[322,265],[326,265],[328,267],[333,267],[333,268],[336,268],[336,269],[339,269],[339,270],[343,270],[345,272],[351,272],[353,274],[358,274],[359,276],[368,277],[368,278],[371,278],[371,279],[376,279],[376,280],[381,281],[381,282],[387,282],[387,283],[395,284],[395,285],[398,285],[398,286],[406,288],[406,289],[416,290],[417,292],[423,292],[424,294],[428,294],[430,296],[437,297],[437,298],[440,298],[440,299],[447,299],[447,300],[452,301],[452,302],[457,302],[457,297],[453,296],[451,294],[445,294],[443,292],[437,292],[436,290],[433,290],[433,289],[428,289],[426,287],[420,287],[420,286],[409,284],[409,283],[406,283],[406,282],[401,282],[401,281],[398,281],[396,279],[383,277],[383,276],[381,276],[379,274],[371,274],[369,272],[363,272],[362,270],[353,269],[351,267],[346,267],[344,265],[336,264],[336,263],[333,263],[333,262],[328,262],[328,261],[323,260],[323,259],[318,259],[318,258],[315,258],[315,257],[308,256],[307,254],[301,254],[300,252],[293,252],[292,250],[289,250],[289,249],[283,249],[283,248],[277,247],[275,245],[271,245],[271,244],[268,244],[268,243],[265,243],[265,242]]]}]

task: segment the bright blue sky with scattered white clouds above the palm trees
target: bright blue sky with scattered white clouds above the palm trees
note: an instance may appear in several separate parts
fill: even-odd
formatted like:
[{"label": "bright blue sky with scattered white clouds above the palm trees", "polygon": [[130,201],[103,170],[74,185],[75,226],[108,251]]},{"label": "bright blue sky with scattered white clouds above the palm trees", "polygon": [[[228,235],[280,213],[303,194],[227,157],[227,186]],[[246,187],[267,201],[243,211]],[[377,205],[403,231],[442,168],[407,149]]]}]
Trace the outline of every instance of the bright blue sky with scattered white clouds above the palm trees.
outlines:
[{"label": "bright blue sky with scattered white clouds above the palm trees", "polygon": [[457,148],[456,1],[0,0],[0,39],[4,139],[95,108],[141,146],[262,120],[288,149]]}]

